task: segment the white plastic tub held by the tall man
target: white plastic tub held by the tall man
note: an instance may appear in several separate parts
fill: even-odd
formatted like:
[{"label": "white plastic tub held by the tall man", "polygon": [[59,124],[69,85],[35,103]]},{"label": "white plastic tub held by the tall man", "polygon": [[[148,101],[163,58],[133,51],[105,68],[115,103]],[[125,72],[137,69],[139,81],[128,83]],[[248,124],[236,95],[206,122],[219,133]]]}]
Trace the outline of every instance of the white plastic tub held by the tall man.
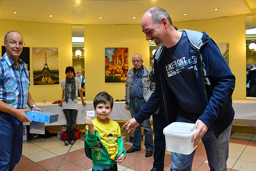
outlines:
[{"label": "white plastic tub held by the tall man", "polygon": [[174,122],[163,129],[165,135],[166,150],[174,153],[191,154],[196,147],[191,140],[196,129],[190,131],[194,127],[194,123]]}]

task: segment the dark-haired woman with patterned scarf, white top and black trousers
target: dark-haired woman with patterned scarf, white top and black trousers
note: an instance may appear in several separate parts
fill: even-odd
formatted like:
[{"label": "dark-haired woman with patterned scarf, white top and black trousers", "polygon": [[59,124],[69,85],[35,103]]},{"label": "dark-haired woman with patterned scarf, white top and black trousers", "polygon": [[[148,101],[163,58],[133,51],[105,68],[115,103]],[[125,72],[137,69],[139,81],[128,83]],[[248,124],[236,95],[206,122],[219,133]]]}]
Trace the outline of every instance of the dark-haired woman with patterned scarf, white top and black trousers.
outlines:
[{"label": "dark-haired woman with patterned scarf, white top and black trousers", "polygon": [[72,66],[66,67],[66,79],[61,81],[62,87],[62,102],[59,106],[62,106],[62,110],[66,116],[67,122],[67,132],[65,145],[73,145],[75,143],[75,121],[78,112],[78,100],[77,95],[79,95],[82,100],[82,104],[86,105],[84,102],[83,92],[81,90],[81,81],[74,77],[75,70]]}]

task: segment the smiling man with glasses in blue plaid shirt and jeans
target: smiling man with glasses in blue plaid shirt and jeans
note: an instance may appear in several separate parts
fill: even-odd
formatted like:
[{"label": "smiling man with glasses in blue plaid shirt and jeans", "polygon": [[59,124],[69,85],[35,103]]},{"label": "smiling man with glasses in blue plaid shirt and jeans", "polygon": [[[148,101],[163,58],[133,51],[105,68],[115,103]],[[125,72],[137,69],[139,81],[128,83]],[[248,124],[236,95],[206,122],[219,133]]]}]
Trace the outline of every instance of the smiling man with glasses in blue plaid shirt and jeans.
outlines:
[{"label": "smiling man with glasses in blue plaid shirt and jeans", "polygon": [[0,171],[12,171],[22,156],[23,122],[31,122],[26,104],[40,110],[28,92],[28,70],[19,58],[23,45],[18,31],[5,34],[6,53],[0,58]]}]

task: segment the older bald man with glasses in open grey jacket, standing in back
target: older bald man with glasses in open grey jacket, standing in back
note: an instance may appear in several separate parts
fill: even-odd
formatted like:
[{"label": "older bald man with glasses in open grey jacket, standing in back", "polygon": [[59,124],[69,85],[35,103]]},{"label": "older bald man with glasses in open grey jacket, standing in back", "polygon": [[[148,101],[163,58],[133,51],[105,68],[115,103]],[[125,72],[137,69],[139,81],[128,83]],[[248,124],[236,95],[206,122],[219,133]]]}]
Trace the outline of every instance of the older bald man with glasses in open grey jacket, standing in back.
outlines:
[{"label": "older bald man with glasses in open grey jacket, standing in back", "polygon": [[[125,109],[130,110],[132,118],[144,107],[146,101],[154,92],[154,83],[150,81],[150,68],[143,66],[142,56],[138,53],[132,56],[132,69],[127,72],[125,84]],[[145,132],[145,157],[153,155],[154,143],[150,118],[142,122]],[[137,126],[134,132],[133,145],[127,153],[133,153],[141,150],[141,124]]]}]

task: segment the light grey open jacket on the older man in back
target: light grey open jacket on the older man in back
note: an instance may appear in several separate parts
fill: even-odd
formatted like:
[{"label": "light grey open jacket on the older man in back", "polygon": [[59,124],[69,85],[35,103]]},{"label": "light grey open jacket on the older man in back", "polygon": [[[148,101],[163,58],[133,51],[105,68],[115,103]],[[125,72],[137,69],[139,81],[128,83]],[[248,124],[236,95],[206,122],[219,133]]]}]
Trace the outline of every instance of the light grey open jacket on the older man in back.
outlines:
[{"label": "light grey open jacket on the older man in back", "polygon": [[[147,102],[150,98],[151,94],[154,92],[154,83],[150,81],[150,72],[151,69],[144,67],[144,74],[142,76],[142,84],[143,84],[143,97],[144,101]],[[125,104],[130,104],[130,90],[132,86],[134,69],[130,69],[127,72],[126,84],[125,84]]]}]

